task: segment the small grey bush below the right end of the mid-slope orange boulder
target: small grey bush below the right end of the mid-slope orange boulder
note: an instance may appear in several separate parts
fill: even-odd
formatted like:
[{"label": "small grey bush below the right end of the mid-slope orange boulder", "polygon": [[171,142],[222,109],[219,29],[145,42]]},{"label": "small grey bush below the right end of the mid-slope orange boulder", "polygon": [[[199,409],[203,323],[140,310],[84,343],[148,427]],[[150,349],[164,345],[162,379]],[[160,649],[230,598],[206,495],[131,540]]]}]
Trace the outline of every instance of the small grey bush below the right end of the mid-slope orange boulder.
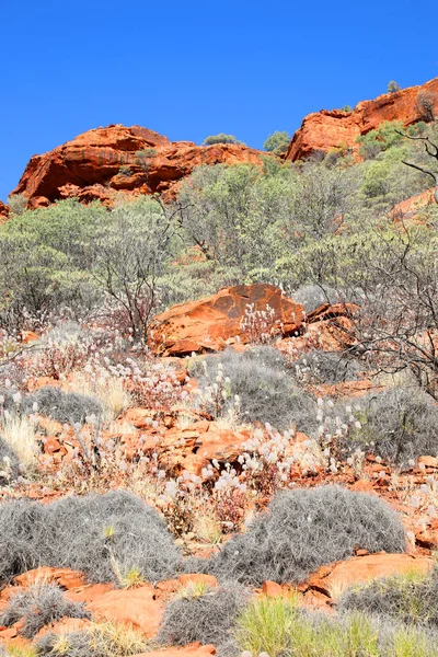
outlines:
[{"label": "small grey bush below the right end of the mid-slope orange boulder", "polygon": [[359,378],[361,367],[342,354],[314,350],[293,362],[296,378],[306,383],[342,383]]}]

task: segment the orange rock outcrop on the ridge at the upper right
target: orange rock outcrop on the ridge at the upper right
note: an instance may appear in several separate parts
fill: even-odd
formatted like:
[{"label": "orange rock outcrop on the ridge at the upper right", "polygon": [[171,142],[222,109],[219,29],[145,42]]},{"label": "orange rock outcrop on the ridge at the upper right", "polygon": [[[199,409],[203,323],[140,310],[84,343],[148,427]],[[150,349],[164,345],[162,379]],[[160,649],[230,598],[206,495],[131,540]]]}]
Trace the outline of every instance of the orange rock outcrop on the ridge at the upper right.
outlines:
[{"label": "orange rock outcrop on the ridge at the upper right", "polygon": [[295,162],[337,147],[355,149],[360,135],[378,128],[385,120],[401,120],[405,126],[417,123],[424,118],[422,97],[435,101],[435,111],[438,112],[438,78],[420,87],[408,87],[373,101],[362,101],[353,112],[322,110],[309,114],[293,135],[286,159]]}]

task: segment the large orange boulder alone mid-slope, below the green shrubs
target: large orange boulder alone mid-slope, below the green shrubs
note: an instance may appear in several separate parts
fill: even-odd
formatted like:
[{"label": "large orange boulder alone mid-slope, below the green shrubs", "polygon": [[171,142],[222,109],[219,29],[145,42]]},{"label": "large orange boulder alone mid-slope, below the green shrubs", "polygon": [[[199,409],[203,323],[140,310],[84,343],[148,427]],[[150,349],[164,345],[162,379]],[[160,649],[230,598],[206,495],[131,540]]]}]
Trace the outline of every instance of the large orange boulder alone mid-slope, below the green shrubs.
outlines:
[{"label": "large orange boulder alone mid-slope, below the green shrubs", "polygon": [[235,338],[250,342],[251,335],[242,326],[250,306],[255,312],[273,309],[268,331],[291,335],[302,327],[303,307],[285,297],[279,288],[266,284],[239,285],[199,301],[180,303],[158,315],[151,330],[151,345],[164,356],[185,356],[223,349]]}]

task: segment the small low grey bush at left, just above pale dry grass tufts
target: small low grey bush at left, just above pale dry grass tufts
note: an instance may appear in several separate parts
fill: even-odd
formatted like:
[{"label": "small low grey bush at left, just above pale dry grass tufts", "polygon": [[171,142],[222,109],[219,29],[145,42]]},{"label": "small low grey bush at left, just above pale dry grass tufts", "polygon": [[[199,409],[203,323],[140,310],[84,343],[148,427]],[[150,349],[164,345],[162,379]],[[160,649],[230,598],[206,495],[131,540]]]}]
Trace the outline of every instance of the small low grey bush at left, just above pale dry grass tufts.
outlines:
[{"label": "small low grey bush at left, just above pale dry grass tufts", "polygon": [[48,415],[62,423],[85,422],[85,417],[94,415],[101,416],[103,413],[102,404],[99,400],[79,392],[64,392],[60,388],[46,385],[37,392],[24,397],[23,408],[32,413],[36,404],[37,413]]}]

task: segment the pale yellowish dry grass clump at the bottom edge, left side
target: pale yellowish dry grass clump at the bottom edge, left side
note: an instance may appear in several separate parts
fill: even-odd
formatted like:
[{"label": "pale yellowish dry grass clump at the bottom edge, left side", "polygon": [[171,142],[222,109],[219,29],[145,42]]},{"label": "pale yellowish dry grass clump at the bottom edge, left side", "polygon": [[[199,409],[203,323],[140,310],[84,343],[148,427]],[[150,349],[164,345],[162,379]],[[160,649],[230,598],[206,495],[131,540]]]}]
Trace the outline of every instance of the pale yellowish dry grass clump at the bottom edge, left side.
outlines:
[{"label": "pale yellowish dry grass clump at the bottom edge, left side", "polygon": [[123,623],[99,623],[69,634],[45,634],[34,642],[36,657],[129,657],[147,650],[145,635]]}]

